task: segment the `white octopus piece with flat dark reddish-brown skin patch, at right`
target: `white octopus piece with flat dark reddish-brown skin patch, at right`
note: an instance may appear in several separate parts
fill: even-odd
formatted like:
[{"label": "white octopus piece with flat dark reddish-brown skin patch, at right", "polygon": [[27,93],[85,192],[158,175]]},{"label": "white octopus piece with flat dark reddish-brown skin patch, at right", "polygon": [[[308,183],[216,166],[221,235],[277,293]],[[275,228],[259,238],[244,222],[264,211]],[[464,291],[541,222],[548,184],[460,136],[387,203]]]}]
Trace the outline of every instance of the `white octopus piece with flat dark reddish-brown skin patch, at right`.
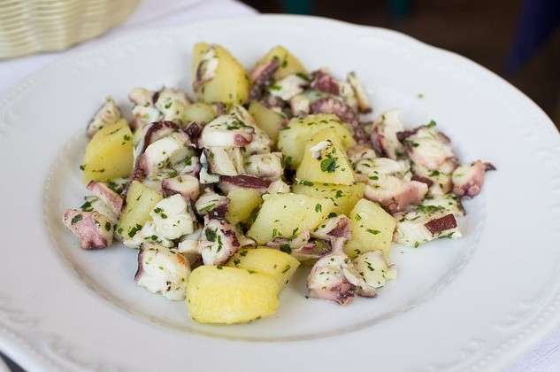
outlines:
[{"label": "white octopus piece with flat dark reddish-brown skin patch, at right", "polygon": [[418,205],[408,213],[397,213],[395,219],[396,243],[418,247],[436,238],[462,236],[455,215],[441,205]]}]

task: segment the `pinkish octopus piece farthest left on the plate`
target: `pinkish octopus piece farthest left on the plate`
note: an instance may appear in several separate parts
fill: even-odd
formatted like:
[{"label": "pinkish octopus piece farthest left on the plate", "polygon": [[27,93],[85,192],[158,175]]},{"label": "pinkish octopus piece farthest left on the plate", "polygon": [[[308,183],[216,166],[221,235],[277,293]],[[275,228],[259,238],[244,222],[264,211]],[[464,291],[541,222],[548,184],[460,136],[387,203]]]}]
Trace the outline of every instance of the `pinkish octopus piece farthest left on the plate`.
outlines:
[{"label": "pinkish octopus piece farthest left on the plate", "polygon": [[113,224],[103,214],[68,209],[62,217],[65,226],[80,239],[82,249],[107,248],[112,243]]}]

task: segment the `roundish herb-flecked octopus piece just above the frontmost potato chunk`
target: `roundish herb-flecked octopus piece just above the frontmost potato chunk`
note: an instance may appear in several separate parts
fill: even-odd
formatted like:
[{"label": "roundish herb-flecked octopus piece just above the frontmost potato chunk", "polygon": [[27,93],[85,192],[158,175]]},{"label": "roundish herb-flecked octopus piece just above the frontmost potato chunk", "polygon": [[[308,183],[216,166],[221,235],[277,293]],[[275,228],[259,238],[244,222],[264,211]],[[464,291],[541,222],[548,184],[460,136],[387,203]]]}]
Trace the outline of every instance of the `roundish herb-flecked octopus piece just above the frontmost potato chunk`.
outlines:
[{"label": "roundish herb-flecked octopus piece just above the frontmost potato chunk", "polygon": [[199,243],[204,265],[225,264],[240,248],[232,225],[216,219],[206,222]]}]

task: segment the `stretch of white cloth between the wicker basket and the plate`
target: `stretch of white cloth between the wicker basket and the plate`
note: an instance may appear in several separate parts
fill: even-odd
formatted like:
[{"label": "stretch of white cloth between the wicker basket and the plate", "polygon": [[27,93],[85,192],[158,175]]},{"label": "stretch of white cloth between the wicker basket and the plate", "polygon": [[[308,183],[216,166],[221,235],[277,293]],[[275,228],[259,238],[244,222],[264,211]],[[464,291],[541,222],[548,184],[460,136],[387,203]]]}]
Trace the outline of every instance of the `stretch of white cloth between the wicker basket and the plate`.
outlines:
[{"label": "stretch of white cloth between the wicker basket and the plate", "polygon": [[[124,24],[96,39],[74,46],[71,50],[80,50],[97,43],[104,43],[117,35],[135,29],[256,13],[249,6],[234,0],[143,0]],[[0,96],[28,74],[64,56],[67,52],[65,50],[0,61]]]}]

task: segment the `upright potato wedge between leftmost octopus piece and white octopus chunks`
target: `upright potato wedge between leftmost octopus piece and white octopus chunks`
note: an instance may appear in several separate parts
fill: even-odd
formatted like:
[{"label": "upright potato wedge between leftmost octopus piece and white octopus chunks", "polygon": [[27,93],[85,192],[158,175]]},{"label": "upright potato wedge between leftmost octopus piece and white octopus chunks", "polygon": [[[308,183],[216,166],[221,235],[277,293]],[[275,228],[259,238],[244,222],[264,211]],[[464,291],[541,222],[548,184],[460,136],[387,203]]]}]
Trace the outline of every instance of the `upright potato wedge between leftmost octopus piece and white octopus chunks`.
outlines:
[{"label": "upright potato wedge between leftmost octopus piece and white octopus chunks", "polygon": [[150,211],[163,197],[141,182],[133,181],[127,192],[127,206],[120,214],[117,224],[117,236],[125,239],[134,236],[134,232],[142,228],[150,220]]}]

